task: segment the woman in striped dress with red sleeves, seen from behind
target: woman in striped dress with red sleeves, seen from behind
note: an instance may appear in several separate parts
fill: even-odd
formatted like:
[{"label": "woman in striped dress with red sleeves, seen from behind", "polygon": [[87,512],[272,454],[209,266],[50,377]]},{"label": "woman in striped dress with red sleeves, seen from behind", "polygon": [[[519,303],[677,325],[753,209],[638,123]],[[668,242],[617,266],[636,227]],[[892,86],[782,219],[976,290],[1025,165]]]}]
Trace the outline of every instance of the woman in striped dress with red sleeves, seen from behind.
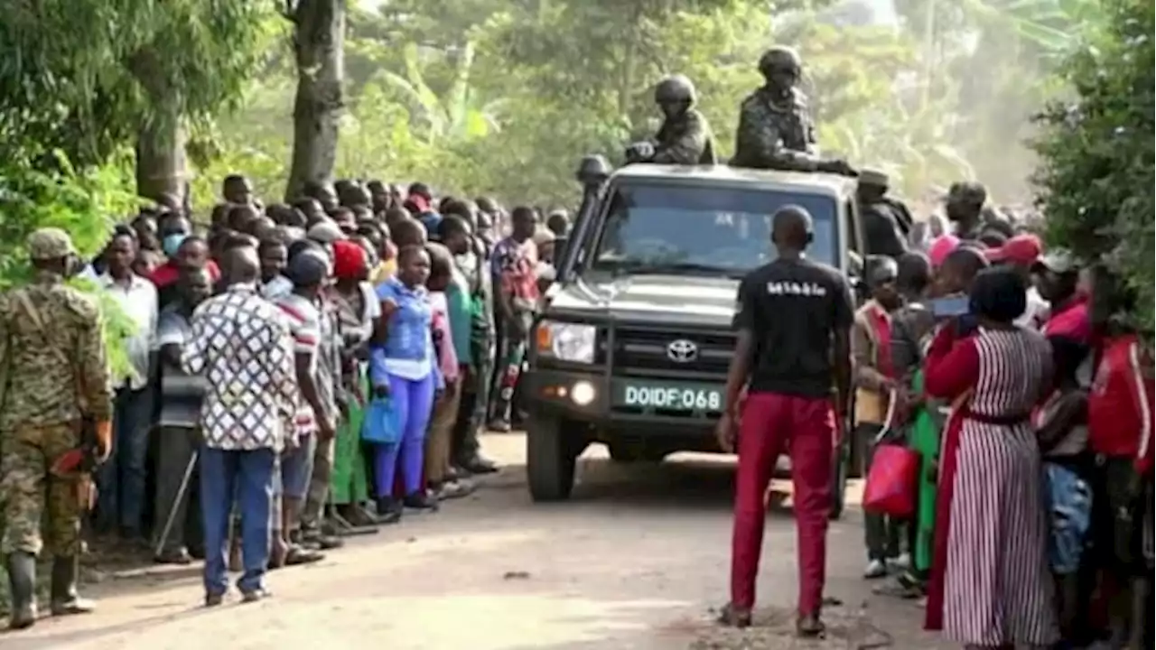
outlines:
[{"label": "woman in striped dress with red sleeves, seen from behind", "polygon": [[980,273],[971,315],[940,330],[927,394],[953,400],[943,440],[927,628],[965,648],[1058,640],[1047,566],[1043,468],[1029,421],[1051,385],[1047,341],[1013,322],[1027,306],[1014,273]]}]

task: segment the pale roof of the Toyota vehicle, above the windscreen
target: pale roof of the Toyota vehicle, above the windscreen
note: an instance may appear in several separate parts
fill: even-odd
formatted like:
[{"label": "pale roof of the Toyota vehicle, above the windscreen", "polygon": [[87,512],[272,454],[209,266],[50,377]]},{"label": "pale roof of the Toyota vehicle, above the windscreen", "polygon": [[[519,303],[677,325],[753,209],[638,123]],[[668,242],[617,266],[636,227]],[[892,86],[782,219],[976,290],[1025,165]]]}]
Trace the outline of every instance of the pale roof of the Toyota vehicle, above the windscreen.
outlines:
[{"label": "pale roof of the Toyota vehicle, above the windscreen", "polygon": [[855,179],[833,173],[743,169],[727,164],[628,164],[614,171],[614,178],[687,182],[702,185],[758,186],[772,190],[802,190],[847,195],[855,190]]}]

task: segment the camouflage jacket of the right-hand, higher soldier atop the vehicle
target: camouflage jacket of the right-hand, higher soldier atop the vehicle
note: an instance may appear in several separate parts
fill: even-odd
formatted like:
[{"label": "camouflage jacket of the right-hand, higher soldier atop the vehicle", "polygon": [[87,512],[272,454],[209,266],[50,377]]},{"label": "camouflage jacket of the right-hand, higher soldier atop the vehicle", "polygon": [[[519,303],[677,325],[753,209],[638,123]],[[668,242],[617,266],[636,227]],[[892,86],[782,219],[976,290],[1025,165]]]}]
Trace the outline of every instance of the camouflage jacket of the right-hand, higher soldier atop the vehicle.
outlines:
[{"label": "camouflage jacket of the right-hand, higher soldier atop the vehicle", "polygon": [[787,105],[759,88],[742,101],[735,134],[734,167],[813,170],[817,156],[815,126],[807,99],[795,91]]}]

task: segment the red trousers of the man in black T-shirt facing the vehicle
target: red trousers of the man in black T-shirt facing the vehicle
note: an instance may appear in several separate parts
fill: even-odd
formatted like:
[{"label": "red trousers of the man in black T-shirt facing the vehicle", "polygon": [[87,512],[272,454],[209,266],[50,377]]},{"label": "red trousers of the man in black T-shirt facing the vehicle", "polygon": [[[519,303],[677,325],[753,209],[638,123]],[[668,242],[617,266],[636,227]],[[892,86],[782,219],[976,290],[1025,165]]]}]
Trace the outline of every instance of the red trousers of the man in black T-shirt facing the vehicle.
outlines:
[{"label": "red trousers of the man in black T-shirt facing the vehicle", "polygon": [[739,430],[731,544],[733,607],[750,610],[755,605],[755,579],[766,523],[763,495],[779,455],[786,451],[791,456],[799,534],[799,613],[818,613],[827,581],[833,442],[835,411],[829,398],[766,392],[747,396]]}]

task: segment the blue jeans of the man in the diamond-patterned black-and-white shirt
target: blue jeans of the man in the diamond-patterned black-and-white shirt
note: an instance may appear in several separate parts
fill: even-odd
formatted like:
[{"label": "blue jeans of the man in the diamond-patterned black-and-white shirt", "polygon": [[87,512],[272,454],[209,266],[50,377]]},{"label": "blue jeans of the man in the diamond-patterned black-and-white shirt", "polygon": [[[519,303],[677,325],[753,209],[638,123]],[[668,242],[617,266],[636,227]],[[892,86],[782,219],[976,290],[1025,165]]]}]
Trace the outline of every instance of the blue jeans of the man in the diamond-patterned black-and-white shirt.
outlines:
[{"label": "blue jeans of the man in the diamond-patterned black-and-white shirt", "polygon": [[272,449],[224,451],[201,446],[201,518],[205,523],[205,591],[229,590],[229,519],[234,497],[240,509],[240,552],[245,573],[237,589],[249,593],[262,589],[269,563],[273,518],[273,478],[276,453]]}]

